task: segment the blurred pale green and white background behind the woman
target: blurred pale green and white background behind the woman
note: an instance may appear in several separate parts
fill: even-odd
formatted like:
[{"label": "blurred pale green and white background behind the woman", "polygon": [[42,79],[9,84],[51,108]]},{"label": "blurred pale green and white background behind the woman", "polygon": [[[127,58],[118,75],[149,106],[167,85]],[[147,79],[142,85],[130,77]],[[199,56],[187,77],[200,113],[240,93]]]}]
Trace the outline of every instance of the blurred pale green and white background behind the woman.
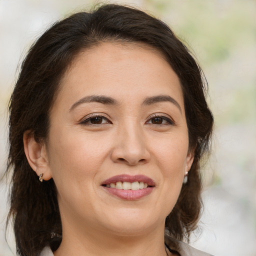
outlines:
[{"label": "blurred pale green and white background behind the woman", "polygon": [[[0,176],[6,163],[7,100],[29,45],[56,19],[93,0],[0,0]],[[209,85],[215,127],[202,170],[204,211],[191,244],[215,256],[256,255],[256,1],[119,0],[165,21],[191,49]],[[0,256],[7,182],[0,183]],[[11,252],[12,251],[12,252]]]}]

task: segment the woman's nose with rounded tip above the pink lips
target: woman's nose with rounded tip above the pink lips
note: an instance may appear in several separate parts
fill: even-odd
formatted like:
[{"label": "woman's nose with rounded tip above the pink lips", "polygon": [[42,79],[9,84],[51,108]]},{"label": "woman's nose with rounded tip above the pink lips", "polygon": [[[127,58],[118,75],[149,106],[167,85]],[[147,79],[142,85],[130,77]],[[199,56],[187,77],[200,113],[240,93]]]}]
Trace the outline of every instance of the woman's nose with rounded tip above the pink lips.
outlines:
[{"label": "woman's nose with rounded tip above the pink lips", "polygon": [[111,152],[113,162],[127,165],[143,164],[149,161],[150,153],[145,136],[139,125],[120,127],[115,134],[114,147]]}]

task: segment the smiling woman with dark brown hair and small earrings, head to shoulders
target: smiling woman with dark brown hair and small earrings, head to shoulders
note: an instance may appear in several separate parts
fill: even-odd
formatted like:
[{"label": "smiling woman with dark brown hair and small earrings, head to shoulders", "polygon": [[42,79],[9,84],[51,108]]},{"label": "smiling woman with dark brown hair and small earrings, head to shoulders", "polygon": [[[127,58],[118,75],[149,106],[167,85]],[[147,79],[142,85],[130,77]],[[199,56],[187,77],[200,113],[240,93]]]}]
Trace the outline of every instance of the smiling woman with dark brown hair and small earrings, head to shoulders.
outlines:
[{"label": "smiling woman with dark brown hair and small earrings, head to shoulders", "polygon": [[115,4],[55,23],[9,111],[19,255],[208,255],[181,240],[199,217],[213,119],[166,24]]}]

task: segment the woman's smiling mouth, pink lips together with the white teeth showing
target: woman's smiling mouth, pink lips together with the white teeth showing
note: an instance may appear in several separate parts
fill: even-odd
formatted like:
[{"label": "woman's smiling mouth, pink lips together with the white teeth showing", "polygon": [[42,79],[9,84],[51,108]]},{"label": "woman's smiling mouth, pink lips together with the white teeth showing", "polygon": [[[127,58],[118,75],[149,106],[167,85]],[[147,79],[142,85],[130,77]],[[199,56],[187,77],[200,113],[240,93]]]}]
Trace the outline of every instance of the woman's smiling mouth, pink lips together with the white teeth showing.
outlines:
[{"label": "woman's smiling mouth, pink lips together with the white teeth showing", "polygon": [[136,200],[152,192],[155,182],[144,175],[117,175],[101,184],[110,194],[121,199]]}]

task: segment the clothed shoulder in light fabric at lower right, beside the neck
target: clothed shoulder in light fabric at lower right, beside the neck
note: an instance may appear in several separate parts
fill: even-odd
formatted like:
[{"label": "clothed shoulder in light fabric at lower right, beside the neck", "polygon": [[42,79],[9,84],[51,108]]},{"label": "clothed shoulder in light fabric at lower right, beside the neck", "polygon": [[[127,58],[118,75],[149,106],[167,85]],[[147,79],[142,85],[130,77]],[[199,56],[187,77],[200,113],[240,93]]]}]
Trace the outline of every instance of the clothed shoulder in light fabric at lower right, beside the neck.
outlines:
[{"label": "clothed shoulder in light fabric at lower right, beside the neck", "polygon": [[185,242],[173,239],[170,236],[165,236],[165,243],[171,250],[178,252],[180,256],[213,256],[209,253],[197,250]]}]

